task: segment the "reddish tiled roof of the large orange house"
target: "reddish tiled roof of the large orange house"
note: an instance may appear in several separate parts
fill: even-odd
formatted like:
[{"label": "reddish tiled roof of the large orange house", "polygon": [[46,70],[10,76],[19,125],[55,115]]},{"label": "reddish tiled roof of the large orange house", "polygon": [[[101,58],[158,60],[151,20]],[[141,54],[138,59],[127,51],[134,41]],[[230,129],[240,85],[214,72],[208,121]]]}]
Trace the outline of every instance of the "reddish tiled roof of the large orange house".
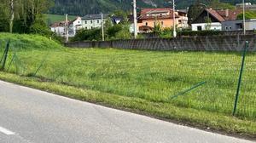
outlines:
[{"label": "reddish tiled roof of the large orange house", "polygon": [[[159,16],[148,16],[147,14],[159,14],[159,13],[169,13],[168,15],[159,15]],[[175,14],[175,17],[179,16]],[[152,20],[152,19],[173,19],[173,9],[170,8],[144,8],[141,11],[139,20]]]}]

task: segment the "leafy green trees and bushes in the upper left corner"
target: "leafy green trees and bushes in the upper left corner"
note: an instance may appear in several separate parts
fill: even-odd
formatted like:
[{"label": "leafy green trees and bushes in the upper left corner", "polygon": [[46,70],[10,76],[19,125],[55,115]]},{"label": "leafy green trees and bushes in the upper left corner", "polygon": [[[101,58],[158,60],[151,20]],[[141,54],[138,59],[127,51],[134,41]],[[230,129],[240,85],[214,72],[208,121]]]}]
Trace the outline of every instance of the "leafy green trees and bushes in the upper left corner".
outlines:
[{"label": "leafy green trees and bushes in the upper left corner", "polygon": [[0,31],[49,34],[44,12],[54,0],[1,0]]}]

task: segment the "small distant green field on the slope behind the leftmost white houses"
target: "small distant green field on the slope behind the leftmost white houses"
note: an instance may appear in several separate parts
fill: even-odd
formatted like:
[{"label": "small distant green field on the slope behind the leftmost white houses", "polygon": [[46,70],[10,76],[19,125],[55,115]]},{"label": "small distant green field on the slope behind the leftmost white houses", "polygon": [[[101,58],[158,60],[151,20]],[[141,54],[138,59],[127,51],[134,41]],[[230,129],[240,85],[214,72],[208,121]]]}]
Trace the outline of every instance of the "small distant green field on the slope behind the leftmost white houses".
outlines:
[{"label": "small distant green field on the slope behind the leftmost white houses", "polygon": [[[53,24],[55,22],[64,21],[66,20],[65,15],[59,15],[59,14],[44,14],[46,22],[48,24]],[[68,15],[68,20],[74,20],[77,16],[74,15]]]}]

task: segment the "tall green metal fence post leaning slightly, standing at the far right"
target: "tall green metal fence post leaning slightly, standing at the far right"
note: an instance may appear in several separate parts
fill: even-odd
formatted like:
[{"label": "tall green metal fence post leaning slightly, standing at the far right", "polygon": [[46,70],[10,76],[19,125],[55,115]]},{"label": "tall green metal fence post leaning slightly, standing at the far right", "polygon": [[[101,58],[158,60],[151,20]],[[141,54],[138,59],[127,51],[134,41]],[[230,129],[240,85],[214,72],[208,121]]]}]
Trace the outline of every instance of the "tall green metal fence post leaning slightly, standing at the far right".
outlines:
[{"label": "tall green metal fence post leaning slightly, standing at the far right", "polygon": [[241,70],[240,70],[240,75],[239,75],[239,79],[238,79],[238,85],[237,85],[237,90],[236,90],[236,100],[234,103],[234,110],[233,110],[233,116],[236,115],[236,108],[237,108],[237,103],[238,103],[238,97],[240,94],[240,89],[241,89],[241,77],[242,77],[242,72],[244,69],[244,65],[245,65],[245,58],[246,58],[246,54],[247,54],[247,48],[248,48],[249,43],[246,41],[244,50],[243,50],[243,54],[242,54],[242,60],[241,60]]}]

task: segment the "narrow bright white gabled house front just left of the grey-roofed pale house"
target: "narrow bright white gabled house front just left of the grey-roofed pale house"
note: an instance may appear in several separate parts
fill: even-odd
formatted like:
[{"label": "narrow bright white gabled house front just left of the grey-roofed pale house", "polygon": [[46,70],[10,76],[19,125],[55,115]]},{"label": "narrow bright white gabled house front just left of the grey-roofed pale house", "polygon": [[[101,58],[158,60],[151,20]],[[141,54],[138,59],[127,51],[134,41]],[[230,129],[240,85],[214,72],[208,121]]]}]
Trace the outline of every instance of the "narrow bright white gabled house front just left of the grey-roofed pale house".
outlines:
[{"label": "narrow bright white gabled house front just left of the grey-roofed pale house", "polygon": [[76,19],[68,22],[68,35],[69,37],[74,37],[76,32],[82,29],[82,19],[81,17],[77,17]]}]

